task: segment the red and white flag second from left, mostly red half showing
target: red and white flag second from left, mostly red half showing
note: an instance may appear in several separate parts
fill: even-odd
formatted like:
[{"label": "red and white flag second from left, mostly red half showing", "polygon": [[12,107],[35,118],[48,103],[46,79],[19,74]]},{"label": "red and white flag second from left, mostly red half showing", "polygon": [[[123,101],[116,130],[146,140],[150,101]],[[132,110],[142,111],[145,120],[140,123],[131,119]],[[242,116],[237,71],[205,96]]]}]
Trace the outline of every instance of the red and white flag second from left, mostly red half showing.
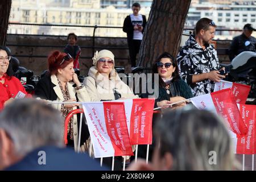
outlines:
[{"label": "red and white flag second from left, mostly red half showing", "polygon": [[125,103],[127,127],[131,144],[152,144],[154,98],[117,100]]}]

